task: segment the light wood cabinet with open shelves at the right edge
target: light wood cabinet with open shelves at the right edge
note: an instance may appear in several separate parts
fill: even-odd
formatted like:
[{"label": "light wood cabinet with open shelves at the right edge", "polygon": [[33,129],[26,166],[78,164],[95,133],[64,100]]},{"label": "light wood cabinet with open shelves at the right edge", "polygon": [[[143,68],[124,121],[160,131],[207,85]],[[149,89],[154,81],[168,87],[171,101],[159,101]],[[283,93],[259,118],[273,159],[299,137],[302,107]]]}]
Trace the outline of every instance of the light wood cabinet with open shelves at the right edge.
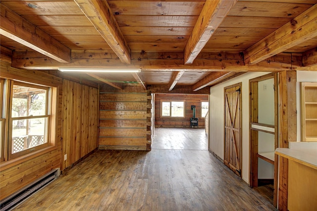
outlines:
[{"label": "light wood cabinet with open shelves at the right edge", "polygon": [[317,82],[301,83],[302,141],[317,141]]}]

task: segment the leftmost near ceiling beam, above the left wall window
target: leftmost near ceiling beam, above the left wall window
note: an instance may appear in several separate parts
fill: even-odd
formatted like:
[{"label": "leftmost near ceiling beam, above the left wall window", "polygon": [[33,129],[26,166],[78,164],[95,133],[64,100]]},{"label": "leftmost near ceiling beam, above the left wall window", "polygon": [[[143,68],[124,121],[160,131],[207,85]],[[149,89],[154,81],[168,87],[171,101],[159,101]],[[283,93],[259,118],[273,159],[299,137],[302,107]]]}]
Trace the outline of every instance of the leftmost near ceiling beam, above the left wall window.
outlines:
[{"label": "leftmost near ceiling beam, above the left wall window", "polygon": [[58,62],[69,63],[71,50],[53,37],[0,4],[0,34]]}]

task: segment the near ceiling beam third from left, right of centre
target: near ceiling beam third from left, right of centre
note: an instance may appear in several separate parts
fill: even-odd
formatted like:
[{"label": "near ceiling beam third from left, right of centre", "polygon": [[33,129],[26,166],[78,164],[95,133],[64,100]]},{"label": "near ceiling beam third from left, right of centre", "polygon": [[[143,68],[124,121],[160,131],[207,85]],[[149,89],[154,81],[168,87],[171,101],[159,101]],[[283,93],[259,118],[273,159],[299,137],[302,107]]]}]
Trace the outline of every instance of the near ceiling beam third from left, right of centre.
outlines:
[{"label": "near ceiling beam third from left, right of centre", "polygon": [[237,0],[207,0],[184,49],[185,64],[194,59],[209,41]]}]

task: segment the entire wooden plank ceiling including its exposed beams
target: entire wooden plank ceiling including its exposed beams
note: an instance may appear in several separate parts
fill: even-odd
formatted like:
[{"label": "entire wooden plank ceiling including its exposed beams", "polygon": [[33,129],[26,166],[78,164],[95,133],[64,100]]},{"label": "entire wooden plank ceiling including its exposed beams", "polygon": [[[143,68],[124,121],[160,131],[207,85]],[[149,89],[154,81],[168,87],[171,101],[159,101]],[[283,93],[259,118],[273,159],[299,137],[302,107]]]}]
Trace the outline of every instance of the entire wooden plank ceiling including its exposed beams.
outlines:
[{"label": "entire wooden plank ceiling including its exposed beams", "polygon": [[78,76],[169,90],[199,90],[249,71],[317,70],[317,0],[0,3],[1,60],[15,68],[141,68]]}]

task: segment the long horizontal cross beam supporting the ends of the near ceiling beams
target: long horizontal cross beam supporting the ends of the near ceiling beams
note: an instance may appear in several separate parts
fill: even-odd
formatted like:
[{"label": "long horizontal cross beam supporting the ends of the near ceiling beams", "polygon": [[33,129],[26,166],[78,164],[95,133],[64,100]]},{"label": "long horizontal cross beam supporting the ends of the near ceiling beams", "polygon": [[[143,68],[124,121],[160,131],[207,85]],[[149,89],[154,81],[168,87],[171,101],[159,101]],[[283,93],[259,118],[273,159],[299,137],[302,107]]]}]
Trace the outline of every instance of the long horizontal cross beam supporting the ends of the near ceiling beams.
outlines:
[{"label": "long horizontal cross beam supporting the ends of the near ceiling beams", "polygon": [[[142,71],[216,71],[216,72],[274,72],[283,70],[317,70],[316,66],[303,67],[302,58],[294,60],[294,56],[275,55],[259,62],[256,65],[245,66],[239,54],[209,53],[208,57],[197,57],[192,65],[184,65],[179,54],[169,52],[169,59],[149,56],[133,56],[131,64],[123,64],[120,60],[105,56],[103,53],[78,53],[70,64],[61,64],[35,51],[13,51],[11,66],[32,70],[57,70],[58,67],[85,67],[85,68],[141,68]],[[278,57],[276,59],[275,57]]]}]

